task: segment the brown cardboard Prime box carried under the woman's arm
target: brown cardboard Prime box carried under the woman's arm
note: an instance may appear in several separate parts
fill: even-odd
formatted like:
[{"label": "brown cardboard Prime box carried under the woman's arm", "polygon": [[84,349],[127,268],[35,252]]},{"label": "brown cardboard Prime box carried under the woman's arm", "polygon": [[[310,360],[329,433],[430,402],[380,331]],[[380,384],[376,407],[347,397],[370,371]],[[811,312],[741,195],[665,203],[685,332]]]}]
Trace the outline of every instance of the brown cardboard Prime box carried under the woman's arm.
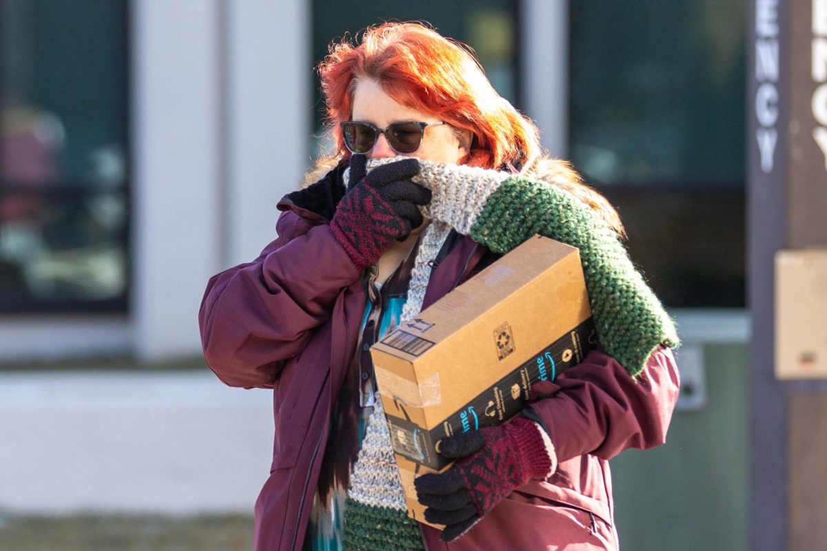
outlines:
[{"label": "brown cardboard Prime box carried under the woman's arm", "polygon": [[371,348],[409,505],[414,476],[447,468],[439,440],[500,425],[595,346],[575,247],[535,235]]}]

